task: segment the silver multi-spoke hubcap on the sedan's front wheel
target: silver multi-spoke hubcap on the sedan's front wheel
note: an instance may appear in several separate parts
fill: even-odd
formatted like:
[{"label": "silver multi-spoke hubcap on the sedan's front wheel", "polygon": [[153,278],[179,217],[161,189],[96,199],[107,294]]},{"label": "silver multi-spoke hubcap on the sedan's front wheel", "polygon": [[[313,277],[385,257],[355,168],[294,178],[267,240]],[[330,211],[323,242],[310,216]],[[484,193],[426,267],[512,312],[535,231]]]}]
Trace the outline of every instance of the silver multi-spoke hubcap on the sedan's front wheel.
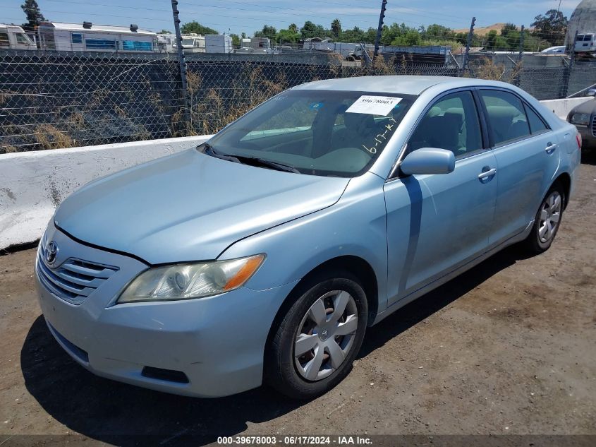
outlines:
[{"label": "silver multi-spoke hubcap on the sedan's front wheel", "polygon": [[351,294],[333,290],[317,299],[298,326],[294,360],[300,376],[319,381],[346,359],[358,329],[358,308]]}]

